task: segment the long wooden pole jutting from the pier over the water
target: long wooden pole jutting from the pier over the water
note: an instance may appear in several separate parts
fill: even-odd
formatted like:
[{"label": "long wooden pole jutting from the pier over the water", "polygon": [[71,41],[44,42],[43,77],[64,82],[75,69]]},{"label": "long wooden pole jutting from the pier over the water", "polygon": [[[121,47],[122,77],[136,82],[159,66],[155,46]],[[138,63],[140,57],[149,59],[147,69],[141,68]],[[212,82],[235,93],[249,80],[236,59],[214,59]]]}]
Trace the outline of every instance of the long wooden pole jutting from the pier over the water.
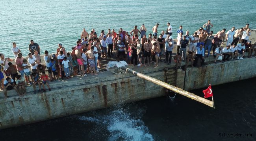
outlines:
[{"label": "long wooden pole jutting from the pier over the water", "polygon": [[157,80],[157,79],[152,78],[152,77],[150,77],[150,76],[147,76],[147,75],[145,75],[145,74],[136,72],[136,71],[134,71],[134,70],[132,70],[132,69],[129,69],[129,68],[127,68],[127,67],[121,67],[121,69],[124,70],[124,71],[130,72],[130,73],[134,74],[135,76],[138,76],[138,77],[140,77],[140,78],[143,78],[143,79],[145,79],[145,80],[148,80],[148,81],[150,81],[150,82],[153,82],[153,83],[155,83],[155,84],[157,84],[157,85],[160,85],[160,86],[162,86],[162,87],[165,87],[165,88],[167,88],[167,89],[169,89],[169,90],[172,90],[172,91],[174,91],[174,92],[177,92],[178,94],[181,94],[181,95],[183,95],[183,96],[186,96],[186,97],[188,97],[188,98],[191,98],[191,99],[193,99],[193,100],[196,100],[196,101],[198,101],[198,102],[200,102],[200,103],[203,103],[203,104],[208,105],[208,106],[210,106],[210,107],[213,108],[213,102],[210,101],[210,100],[208,100],[208,99],[202,98],[202,97],[200,97],[200,96],[196,96],[195,94],[193,94],[193,93],[191,93],[191,92],[187,92],[186,90],[180,89],[180,88],[175,87],[175,86],[173,86],[173,85],[169,85],[168,83],[165,83],[165,82],[163,82],[163,81]]}]

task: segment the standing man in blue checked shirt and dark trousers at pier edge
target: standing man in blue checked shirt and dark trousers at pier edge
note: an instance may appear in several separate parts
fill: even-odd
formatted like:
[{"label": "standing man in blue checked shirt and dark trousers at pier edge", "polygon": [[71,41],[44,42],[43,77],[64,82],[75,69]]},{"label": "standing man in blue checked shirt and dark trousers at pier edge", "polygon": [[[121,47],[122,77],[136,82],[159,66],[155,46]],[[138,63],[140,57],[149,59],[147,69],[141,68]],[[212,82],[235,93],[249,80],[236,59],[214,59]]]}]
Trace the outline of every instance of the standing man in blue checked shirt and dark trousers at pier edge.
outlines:
[{"label": "standing man in blue checked shirt and dark trousers at pier edge", "polygon": [[170,36],[169,38],[166,39],[166,42],[165,42],[166,60],[164,62],[167,63],[167,65],[170,65],[172,61],[173,45],[174,45],[173,36]]}]

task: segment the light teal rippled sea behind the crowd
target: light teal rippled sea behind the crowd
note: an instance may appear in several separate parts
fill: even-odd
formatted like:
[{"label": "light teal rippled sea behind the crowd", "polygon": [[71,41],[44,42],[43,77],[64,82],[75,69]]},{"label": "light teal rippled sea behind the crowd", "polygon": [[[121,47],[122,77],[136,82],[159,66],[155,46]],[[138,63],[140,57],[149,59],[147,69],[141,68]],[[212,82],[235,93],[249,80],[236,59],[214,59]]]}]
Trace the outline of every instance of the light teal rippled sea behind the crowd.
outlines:
[{"label": "light teal rippled sea behind the crowd", "polygon": [[122,27],[130,32],[134,25],[142,24],[147,35],[159,23],[158,33],[173,27],[173,37],[180,25],[190,34],[208,20],[211,30],[230,30],[249,23],[255,29],[255,0],[1,0],[0,1],[0,53],[13,57],[12,42],[17,43],[24,56],[33,39],[45,50],[56,52],[58,43],[67,51],[76,45],[82,29],[118,32]]}]

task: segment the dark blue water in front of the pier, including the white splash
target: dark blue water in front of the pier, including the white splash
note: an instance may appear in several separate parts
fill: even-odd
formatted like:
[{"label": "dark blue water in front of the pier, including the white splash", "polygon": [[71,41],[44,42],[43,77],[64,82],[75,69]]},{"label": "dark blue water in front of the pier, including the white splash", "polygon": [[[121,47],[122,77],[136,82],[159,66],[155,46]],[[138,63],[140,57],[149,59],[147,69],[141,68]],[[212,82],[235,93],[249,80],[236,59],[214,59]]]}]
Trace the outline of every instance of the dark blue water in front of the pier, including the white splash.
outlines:
[{"label": "dark blue water in front of the pier, including the white splash", "polygon": [[[256,78],[212,86],[215,109],[160,97],[0,130],[1,141],[256,141]],[[202,90],[191,92],[202,96]],[[226,137],[226,134],[251,137]]]}]

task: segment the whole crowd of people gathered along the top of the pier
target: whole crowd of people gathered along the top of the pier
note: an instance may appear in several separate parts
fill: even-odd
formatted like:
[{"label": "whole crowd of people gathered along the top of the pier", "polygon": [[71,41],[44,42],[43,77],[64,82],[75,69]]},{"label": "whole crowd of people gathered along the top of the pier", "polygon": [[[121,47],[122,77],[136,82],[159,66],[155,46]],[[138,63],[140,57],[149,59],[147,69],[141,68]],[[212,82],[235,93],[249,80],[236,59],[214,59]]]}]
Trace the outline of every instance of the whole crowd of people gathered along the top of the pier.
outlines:
[{"label": "whole crowd of people gathered along the top of the pier", "polygon": [[[88,33],[83,29],[81,38],[76,41],[76,46],[68,52],[61,43],[54,54],[44,51],[43,60],[41,60],[41,48],[33,40],[30,40],[28,49],[28,59],[23,58],[22,51],[13,42],[12,52],[14,59],[5,57],[0,54],[0,89],[4,91],[5,99],[7,98],[7,90],[15,89],[19,96],[26,94],[26,85],[33,85],[34,93],[46,92],[45,85],[50,91],[49,81],[67,80],[71,76],[77,75],[87,76],[88,73],[98,75],[101,67],[101,60],[107,57],[117,60],[126,60],[131,65],[144,67],[154,65],[158,67],[159,61],[163,61],[168,65],[171,64],[174,39],[172,37],[173,27],[167,23],[167,29],[158,33],[156,24],[152,28],[152,33],[148,34],[144,24],[140,29],[137,25],[130,32],[124,31],[122,28],[118,32],[115,29],[104,30],[97,35],[94,29]],[[245,51],[248,51],[248,58],[256,57],[256,48],[249,40],[250,28],[249,24],[241,29],[232,27],[226,32],[226,29],[219,31],[213,36],[213,27],[211,21],[200,27],[192,35],[189,31],[183,32],[183,26],[180,25],[176,31],[176,51],[174,62],[176,68],[180,67],[181,61],[186,61],[186,67],[191,61],[194,67],[198,62],[204,62],[204,56],[210,56],[213,51],[215,63],[217,60],[229,61],[234,59],[244,60]],[[225,33],[226,32],[226,33]],[[222,44],[226,39],[226,45]],[[116,53],[114,53],[116,51]],[[239,54],[241,56],[239,57]],[[13,64],[12,62],[15,62]],[[46,72],[48,72],[46,74]],[[6,79],[4,79],[4,74]],[[36,91],[36,85],[39,90]],[[43,90],[41,89],[41,85]]]}]

